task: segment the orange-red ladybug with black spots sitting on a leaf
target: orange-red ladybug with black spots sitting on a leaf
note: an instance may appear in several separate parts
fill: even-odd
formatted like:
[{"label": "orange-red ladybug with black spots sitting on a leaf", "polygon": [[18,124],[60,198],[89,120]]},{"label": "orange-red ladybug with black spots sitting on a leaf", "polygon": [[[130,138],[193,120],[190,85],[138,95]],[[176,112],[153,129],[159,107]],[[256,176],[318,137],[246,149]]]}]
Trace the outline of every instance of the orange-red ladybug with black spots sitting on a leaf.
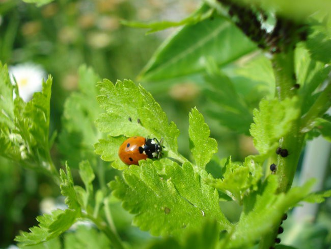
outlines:
[{"label": "orange-red ladybug with black spots sitting on a leaf", "polygon": [[159,158],[163,147],[161,142],[156,138],[130,137],[121,144],[118,155],[125,164],[138,165],[139,160]]}]

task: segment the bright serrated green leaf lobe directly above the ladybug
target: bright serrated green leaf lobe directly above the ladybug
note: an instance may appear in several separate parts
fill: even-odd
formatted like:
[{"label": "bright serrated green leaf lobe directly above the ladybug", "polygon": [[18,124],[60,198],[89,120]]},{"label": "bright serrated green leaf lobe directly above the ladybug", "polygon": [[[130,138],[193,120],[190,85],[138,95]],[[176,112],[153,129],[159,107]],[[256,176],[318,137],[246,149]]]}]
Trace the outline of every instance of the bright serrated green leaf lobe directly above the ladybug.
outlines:
[{"label": "bright serrated green leaf lobe directly above the ladybug", "polygon": [[116,85],[104,80],[98,86],[101,92],[98,102],[106,113],[99,115],[96,124],[100,131],[108,134],[108,137],[95,145],[97,154],[106,160],[116,160],[117,167],[123,168],[124,164],[115,156],[115,153],[118,153],[119,141],[123,139],[118,136],[143,136],[162,139],[164,153],[182,161],[177,152],[179,131],[176,124],[169,123],[166,113],[150,93],[129,80],[118,81]]}]

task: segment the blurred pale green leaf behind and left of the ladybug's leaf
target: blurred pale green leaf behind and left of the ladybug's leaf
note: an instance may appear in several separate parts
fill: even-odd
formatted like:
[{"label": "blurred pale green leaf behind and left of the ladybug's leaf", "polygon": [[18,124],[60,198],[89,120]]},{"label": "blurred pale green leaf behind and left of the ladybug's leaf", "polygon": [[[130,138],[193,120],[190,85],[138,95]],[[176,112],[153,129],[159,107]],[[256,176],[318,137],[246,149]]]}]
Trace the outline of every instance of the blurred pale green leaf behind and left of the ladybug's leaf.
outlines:
[{"label": "blurred pale green leaf behind and left of the ladybug's leaf", "polygon": [[97,74],[85,65],[78,70],[78,92],[72,93],[64,104],[59,151],[71,167],[78,167],[81,160],[93,162],[93,144],[101,138],[94,121],[102,112],[96,97],[99,94]]}]

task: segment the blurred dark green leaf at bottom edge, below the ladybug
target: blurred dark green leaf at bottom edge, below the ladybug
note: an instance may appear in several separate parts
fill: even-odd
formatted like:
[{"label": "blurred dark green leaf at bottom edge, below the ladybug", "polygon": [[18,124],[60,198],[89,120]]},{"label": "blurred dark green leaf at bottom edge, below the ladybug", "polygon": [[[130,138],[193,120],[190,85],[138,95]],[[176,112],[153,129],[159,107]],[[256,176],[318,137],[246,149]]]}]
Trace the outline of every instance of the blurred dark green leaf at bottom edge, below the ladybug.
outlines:
[{"label": "blurred dark green leaf at bottom edge, below the ladybug", "polygon": [[214,249],[217,248],[219,226],[215,221],[206,221],[198,231],[187,231],[180,241],[173,237],[154,242],[149,249]]}]

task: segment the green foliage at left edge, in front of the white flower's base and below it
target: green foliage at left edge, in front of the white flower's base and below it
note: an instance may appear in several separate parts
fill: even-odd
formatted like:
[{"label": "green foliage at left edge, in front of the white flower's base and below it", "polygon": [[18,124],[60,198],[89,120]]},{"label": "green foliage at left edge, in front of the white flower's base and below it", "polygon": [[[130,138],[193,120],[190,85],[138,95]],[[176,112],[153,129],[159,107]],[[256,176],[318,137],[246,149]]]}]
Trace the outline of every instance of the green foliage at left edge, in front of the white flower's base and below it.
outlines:
[{"label": "green foliage at left edge, in front of the white flower's base and below it", "polygon": [[0,64],[0,155],[46,173],[55,170],[48,142],[51,85],[49,77],[42,91],[25,103],[9,80],[7,66]]}]

